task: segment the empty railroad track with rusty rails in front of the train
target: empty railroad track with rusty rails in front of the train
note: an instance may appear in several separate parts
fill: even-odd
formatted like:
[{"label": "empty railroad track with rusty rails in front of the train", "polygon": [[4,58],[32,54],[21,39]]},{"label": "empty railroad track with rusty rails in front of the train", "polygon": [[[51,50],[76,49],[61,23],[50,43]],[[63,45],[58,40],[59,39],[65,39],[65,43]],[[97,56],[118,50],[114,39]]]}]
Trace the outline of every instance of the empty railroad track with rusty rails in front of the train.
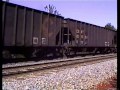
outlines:
[{"label": "empty railroad track with rusty rails in front of the train", "polygon": [[62,66],[80,64],[80,63],[87,63],[87,62],[94,62],[100,60],[106,60],[110,58],[116,58],[116,54],[107,54],[107,55],[97,55],[91,57],[83,57],[83,58],[70,58],[70,59],[62,59],[57,61],[49,61],[39,64],[30,64],[30,65],[23,65],[23,66],[14,66],[14,67],[4,67],[2,69],[3,77],[18,75],[18,74],[27,74],[34,71],[52,69]]}]

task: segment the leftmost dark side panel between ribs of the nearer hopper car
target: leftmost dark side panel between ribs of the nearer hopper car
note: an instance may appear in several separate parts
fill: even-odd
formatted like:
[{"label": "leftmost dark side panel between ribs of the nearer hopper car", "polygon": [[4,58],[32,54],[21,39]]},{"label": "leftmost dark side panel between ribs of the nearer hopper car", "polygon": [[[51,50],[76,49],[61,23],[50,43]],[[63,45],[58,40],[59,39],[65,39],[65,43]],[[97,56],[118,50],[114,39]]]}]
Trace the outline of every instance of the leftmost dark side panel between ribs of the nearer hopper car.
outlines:
[{"label": "leftmost dark side panel between ribs of the nearer hopper car", "polygon": [[4,45],[14,46],[16,36],[17,7],[6,4]]}]

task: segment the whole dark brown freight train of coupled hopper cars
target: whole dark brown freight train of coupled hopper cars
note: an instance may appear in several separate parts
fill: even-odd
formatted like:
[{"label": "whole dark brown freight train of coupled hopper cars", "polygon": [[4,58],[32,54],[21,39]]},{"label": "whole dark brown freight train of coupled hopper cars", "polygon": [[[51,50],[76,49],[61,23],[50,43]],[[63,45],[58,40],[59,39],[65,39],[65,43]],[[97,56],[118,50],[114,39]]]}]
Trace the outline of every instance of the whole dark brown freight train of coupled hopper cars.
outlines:
[{"label": "whole dark brown freight train of coupled hopper cars", "polygon": [[117,52],[117,32],[2,1],[3,58]]}]

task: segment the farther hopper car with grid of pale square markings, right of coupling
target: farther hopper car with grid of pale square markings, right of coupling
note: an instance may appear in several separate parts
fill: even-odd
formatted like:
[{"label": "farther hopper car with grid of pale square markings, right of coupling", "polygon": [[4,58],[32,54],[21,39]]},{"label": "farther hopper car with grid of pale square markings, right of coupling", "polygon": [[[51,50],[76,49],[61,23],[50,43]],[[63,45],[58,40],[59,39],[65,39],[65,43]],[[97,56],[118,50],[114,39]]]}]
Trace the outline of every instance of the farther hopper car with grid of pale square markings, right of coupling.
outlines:
[{"label": "farther hopper car with grid of pale square markings, right of coupling", "polygon": [[116,31],[70,18],[63,23],[62,45],[67,54],[116,52]]}]

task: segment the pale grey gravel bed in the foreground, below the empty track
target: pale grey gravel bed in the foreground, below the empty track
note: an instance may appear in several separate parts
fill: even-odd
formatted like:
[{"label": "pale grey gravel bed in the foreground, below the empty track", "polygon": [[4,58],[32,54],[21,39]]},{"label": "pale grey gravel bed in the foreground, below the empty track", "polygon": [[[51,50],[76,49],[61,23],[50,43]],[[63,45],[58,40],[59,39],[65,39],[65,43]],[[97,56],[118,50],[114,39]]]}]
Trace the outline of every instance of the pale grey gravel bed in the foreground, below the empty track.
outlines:
[{"label": "pale grey gravel bed in the foreground, below the empty track", "polygon": [[[39,71],[41,73],[41,71]],[[3,78],[3,90],[90,90],[98,83],[117,74],[117,59],[49,70],[46,74],[24,77],[24,79]]]}]

